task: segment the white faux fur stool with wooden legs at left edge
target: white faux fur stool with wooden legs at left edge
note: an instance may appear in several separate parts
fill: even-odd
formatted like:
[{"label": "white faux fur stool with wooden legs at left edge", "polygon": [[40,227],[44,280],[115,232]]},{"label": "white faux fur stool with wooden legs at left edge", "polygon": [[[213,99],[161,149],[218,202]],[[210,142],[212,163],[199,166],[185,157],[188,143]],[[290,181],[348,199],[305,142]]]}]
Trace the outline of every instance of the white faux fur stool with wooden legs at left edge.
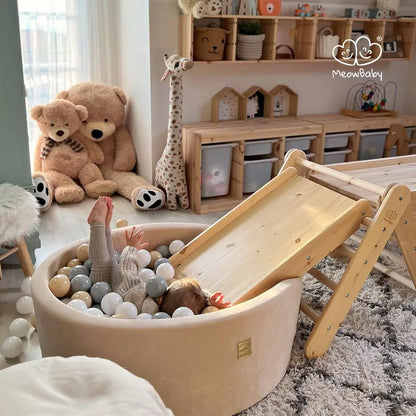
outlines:
[{"label": "white faux fur stool with wooden legs at left edge", "polygon": [[[39,223],[39,208],[36,198],[20,186],[0,184],[0,262],[17,252],[26,277],[32,276],[34,267],[26,246],[25,237],[30,236]],[[0,264],[0,279],[2,278]]]}]

